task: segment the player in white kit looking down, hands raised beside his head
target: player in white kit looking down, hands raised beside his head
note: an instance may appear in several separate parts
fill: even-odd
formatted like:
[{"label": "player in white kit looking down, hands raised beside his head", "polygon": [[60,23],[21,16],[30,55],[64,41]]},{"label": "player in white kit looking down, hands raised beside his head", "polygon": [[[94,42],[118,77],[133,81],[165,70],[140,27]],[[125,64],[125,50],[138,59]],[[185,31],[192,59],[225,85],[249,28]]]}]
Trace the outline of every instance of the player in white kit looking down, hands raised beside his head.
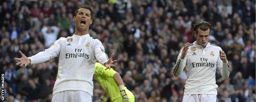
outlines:
[{"label": "player in white kit looking down, hands raised beside his head", "polygon": [[227,79],[230,73],[228,61],[219,46],[208,42],[210,23],[200,22],[195,27],[197,41],[181,48],[173,73],[179,77],[187,68],[183,102],[216,102],[216,69]]}]

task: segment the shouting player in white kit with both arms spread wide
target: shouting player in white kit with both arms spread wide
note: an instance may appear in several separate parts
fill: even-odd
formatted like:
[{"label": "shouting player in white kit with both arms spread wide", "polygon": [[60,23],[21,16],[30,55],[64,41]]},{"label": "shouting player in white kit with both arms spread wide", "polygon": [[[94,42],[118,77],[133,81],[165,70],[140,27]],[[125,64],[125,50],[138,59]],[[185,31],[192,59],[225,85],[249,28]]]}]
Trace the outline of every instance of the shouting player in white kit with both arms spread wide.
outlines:
[{"label": "shouting player in white kit with both arms spread wide", "polygon": [[93,95],[94,65],[96,61],[111,68],[114,53],[108,59],[104,46],[98,39],[89,35],[92,11],[88,5],[75,11],[75,33],[67,38],[60,38],[50,48],[26,57],[21,51],[20,61],[16,65],[27,66],[59,57],[57,79],[53,88],[52,102],[91,102]]}]

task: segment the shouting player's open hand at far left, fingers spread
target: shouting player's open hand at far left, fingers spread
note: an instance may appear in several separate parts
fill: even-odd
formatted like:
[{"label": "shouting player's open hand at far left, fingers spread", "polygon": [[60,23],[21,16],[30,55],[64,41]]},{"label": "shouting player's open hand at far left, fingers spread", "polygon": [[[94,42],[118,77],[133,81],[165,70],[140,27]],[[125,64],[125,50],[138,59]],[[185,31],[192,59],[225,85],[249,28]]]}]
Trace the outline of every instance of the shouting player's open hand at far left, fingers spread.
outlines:
[{"label": "shouting player's open hand at far left, fingers spread", "polygon": [[21,58],[15,58],[15,60],[18,60],[19,62],[16,63],[16,65],[25,66],[29,65],[31,63],[31,60],[28,59],[20,50],[18,51],[21,54]]}]

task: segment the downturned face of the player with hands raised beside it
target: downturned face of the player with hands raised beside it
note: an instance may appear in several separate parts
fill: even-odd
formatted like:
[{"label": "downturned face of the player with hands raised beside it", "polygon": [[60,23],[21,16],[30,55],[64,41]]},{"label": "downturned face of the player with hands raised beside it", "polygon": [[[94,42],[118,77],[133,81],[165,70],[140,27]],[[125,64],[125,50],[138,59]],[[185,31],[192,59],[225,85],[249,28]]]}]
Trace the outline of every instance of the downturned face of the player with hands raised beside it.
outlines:
[{"label": "downturned face of the player with hands raised beside it", "polygon": [[198,33],[194,32],[195,37],[197,38],[197,43],[199,43],[203,48],[206,47],[209,34],[210,34],[210,29],[203,31],[201,29],[198,29]]}]

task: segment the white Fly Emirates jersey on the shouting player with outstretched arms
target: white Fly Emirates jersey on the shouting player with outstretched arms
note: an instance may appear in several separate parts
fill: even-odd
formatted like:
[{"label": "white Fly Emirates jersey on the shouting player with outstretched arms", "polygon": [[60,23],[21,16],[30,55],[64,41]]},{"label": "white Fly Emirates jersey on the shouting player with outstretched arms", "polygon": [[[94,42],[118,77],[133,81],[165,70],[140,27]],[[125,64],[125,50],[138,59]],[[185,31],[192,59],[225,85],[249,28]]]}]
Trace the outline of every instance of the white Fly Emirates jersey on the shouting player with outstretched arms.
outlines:
[{"label": "white Fly Emirates jersey on the shouting player with outstretched arms", "polygon": [[80,90],[93,95],[92,77],[96,60],[101,64],[108,60],[101,41],[93,39],[89,34],[73,34],[58,39],[50,48],[28,58],[31,64],[36,64],[57,56],[59,66],[53,95],[66,90]]}]

